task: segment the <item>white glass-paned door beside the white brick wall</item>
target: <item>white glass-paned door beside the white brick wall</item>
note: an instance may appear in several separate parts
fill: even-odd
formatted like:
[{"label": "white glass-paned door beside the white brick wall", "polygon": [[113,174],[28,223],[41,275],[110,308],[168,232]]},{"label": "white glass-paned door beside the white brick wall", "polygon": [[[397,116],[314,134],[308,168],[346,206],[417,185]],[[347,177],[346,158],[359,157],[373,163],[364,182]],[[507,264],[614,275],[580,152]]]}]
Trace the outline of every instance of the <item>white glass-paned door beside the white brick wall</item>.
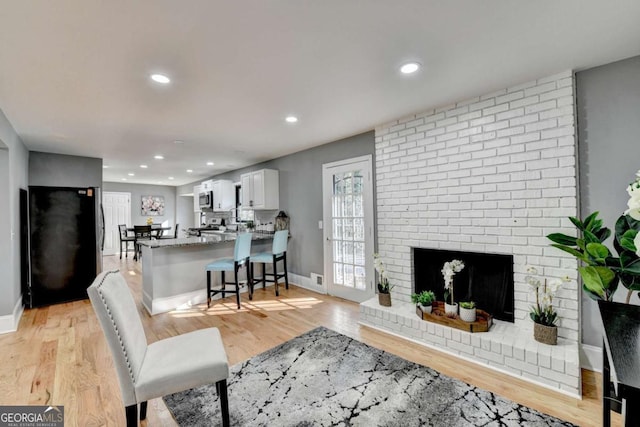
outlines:
[{"label": "white glass-paned door beside the white brick wall", "polygon": [[371,171],[371,156],[322,166],[327,291],[356,302],[375,295]]}]

